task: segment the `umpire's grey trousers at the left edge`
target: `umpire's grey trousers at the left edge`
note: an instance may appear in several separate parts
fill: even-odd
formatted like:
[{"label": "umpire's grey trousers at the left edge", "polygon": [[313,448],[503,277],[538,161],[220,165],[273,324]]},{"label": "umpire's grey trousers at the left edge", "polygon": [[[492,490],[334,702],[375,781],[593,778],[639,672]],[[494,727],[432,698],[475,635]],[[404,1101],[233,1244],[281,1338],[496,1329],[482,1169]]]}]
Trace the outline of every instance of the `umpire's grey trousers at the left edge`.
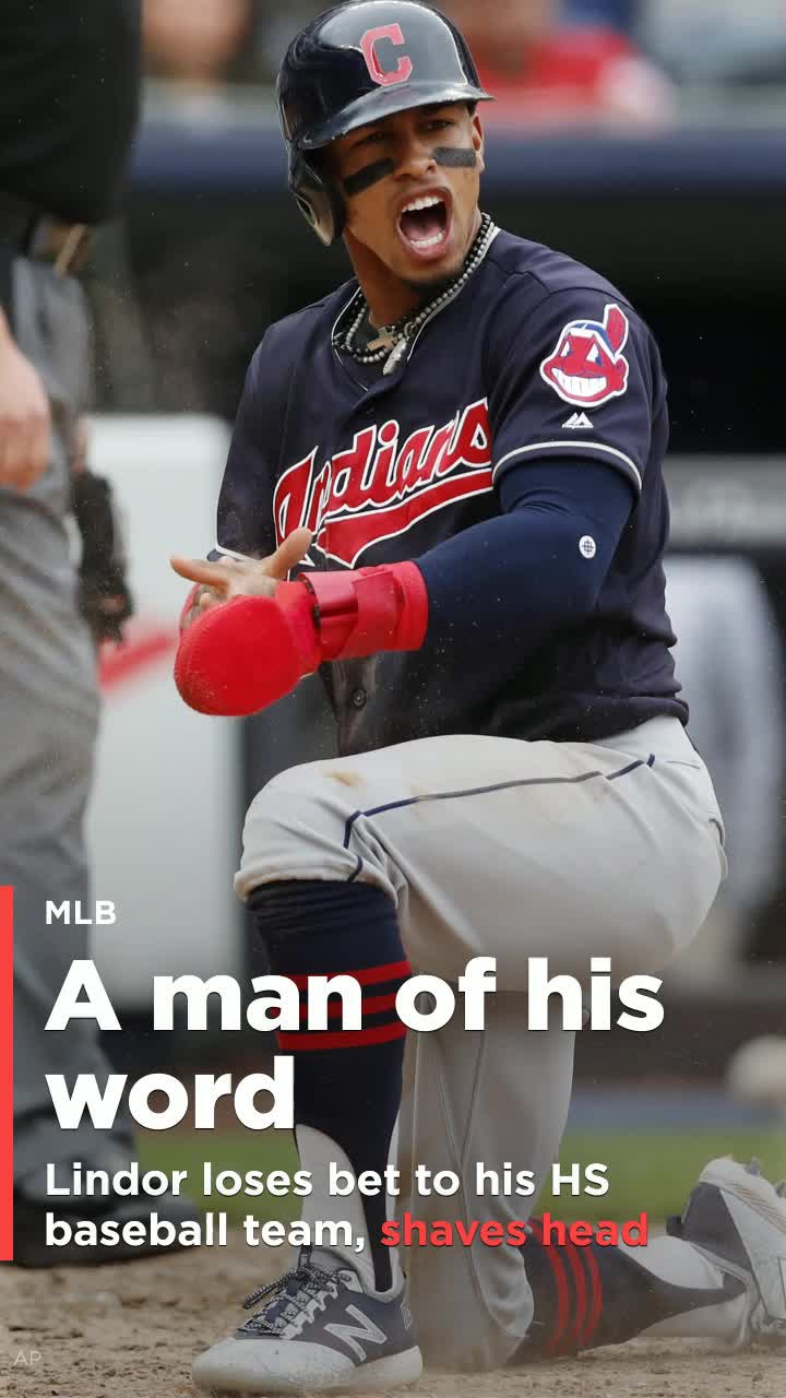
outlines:
[{"label": "umpire's grey trousers at the left edge", "polygon": [[[87,928],[46,925],[46,900],[88,900],[84,814],[98,728],[97,663],[77,605],[64,432],[90,394],[90,329],[78,285],[52,267],[14,263],[17,343],[49,393],[49,468],[25,492],[0,491],[0,882],[14,886],[14,1177],[105,1144],[88,1124],[62,1131],[46,1072],[109,1071],[85,1022],[46,1033]],[[112,1142],[124,1153],[123,1123]],[[38,1187],[36,1187],[38,1192]]]}]

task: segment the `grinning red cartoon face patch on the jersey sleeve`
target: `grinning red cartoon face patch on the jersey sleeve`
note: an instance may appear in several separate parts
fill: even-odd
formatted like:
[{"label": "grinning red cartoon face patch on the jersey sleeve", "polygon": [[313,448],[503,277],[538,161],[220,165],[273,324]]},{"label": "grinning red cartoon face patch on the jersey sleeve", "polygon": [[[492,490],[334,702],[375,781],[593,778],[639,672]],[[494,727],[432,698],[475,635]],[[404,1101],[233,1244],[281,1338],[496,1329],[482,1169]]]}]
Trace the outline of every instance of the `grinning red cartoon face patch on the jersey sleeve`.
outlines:
[{"label": "grinning red cartoon face patch on the jersey sleeve", "polygon": [[608,305],[600,320],[571,320],[540,372],[565,403],[599,408],[628,387],[628,317]]}]

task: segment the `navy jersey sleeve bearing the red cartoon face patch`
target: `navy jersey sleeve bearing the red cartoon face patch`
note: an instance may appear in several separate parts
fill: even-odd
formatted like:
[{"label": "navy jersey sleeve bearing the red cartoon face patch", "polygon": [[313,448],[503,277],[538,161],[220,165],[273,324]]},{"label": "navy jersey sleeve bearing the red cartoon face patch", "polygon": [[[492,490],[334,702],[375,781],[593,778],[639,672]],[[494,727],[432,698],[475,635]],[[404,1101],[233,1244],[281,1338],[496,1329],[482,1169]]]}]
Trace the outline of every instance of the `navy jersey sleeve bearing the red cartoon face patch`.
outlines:
[{"label": "navy jersey sleeve bearing the red cartoon face patch", "polygon": [[495,336],[494,480],[541,457],[604,461],[642,487],[664,386],[642,320],[611,289],[571,289],[516,313]]}]

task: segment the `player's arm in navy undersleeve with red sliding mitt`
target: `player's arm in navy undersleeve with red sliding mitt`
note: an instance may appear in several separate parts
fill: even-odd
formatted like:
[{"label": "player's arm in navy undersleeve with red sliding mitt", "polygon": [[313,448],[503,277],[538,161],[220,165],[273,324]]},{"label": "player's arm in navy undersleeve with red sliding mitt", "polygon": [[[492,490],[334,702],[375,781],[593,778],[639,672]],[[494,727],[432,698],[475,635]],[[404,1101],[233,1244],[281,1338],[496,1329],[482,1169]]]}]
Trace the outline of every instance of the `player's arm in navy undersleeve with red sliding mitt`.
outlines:
[{"label": "player's arm in navy undersleeve with red sliding mitt", "polygon": [[241,596],[214,610],[180,642],[180,695],[201,713],[256,713],[324,661],[418,650],[427,632],[432,644],[469,651],[474,637],[488,646],[492,636],[526,657],[592,611],[631,512],[629,487],[607,467],[582,466],[578,489],[573,470],[551,492],[533,489],[537,473],[523,491],[513,478],[510,513],[417,563],[313,573],[280,583],[271,597]]}]

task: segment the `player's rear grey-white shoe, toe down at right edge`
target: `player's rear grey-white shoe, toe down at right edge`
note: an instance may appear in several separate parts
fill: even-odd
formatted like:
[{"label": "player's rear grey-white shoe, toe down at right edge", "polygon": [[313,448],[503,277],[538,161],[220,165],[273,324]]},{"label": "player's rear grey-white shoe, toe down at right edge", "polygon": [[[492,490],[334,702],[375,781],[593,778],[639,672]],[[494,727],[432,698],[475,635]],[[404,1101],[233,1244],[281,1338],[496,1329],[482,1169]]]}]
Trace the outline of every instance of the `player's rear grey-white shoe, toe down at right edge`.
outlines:
[{"label": "player's rear grey-white shoe, toe down at right edge", "polygon": [[710,1160],[681,1218],[669,1219],[673,1237],[692,1243],[750,1297],[736,1346],[786,1341],[786,1199],[783,1186],[764,1179],[758,1160]]}]

